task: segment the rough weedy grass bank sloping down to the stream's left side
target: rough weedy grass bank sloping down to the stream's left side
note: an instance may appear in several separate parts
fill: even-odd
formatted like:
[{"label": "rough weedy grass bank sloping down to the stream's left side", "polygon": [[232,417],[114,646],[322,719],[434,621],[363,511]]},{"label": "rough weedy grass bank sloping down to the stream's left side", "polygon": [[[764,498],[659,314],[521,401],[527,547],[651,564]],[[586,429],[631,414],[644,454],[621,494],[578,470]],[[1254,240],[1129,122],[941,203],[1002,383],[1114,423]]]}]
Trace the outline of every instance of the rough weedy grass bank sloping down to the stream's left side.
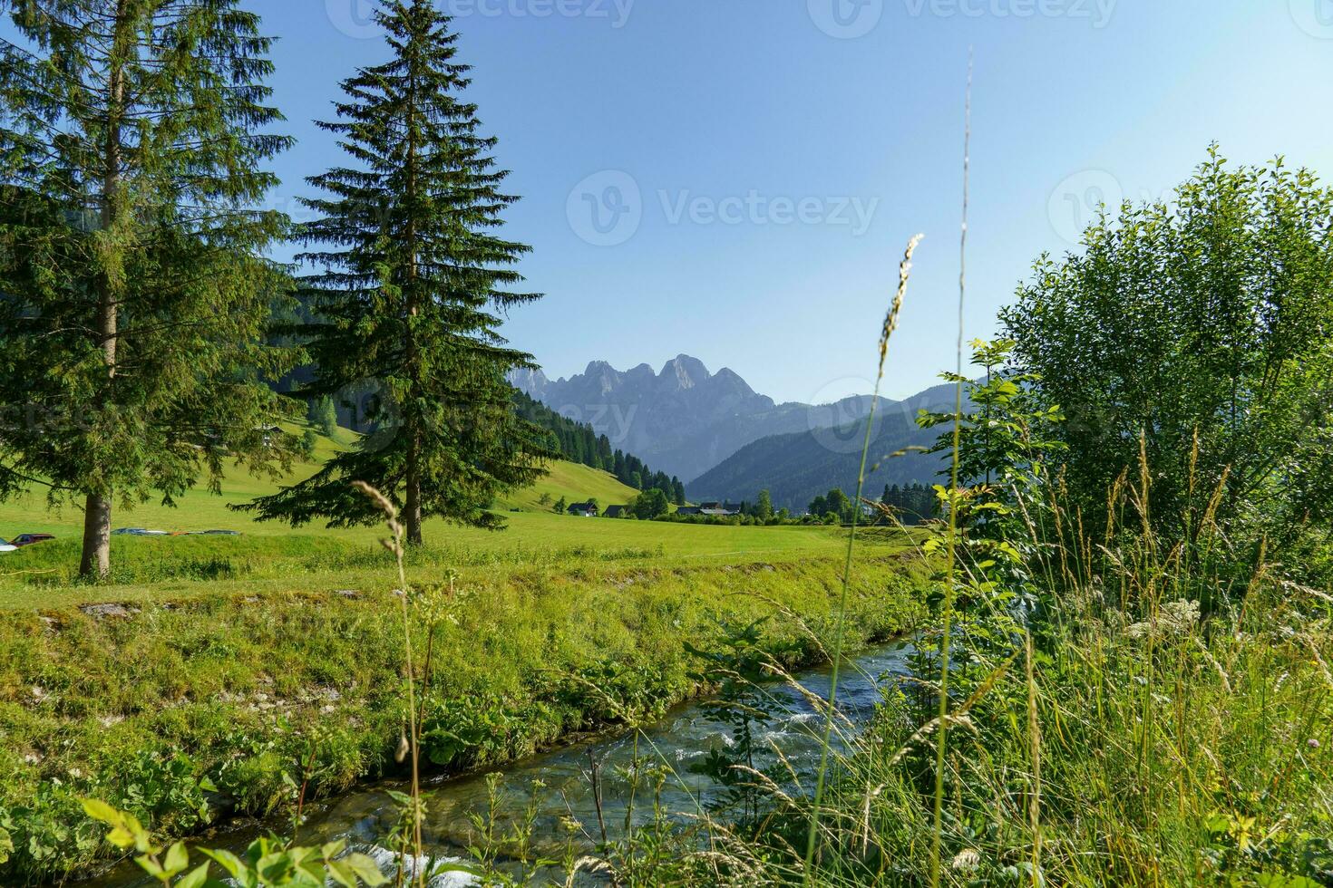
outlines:
[{"label": "rough weedy grass bank sloping down to the stream's left side", "polygon": [[[901,630],[924,583],[901,543],[873,551],[853,575],[861,640]],[[404,639],[384,558],[367,553],[351,572],[325,575],[340,582],[323,591],[181,580],[184,595],[157,586],[129,600],[83,590],[119,607],[0,612],[0,828],[15,845],[3,881],[59,877],[105,853],[80,796],[171,835],[204,827],[219,805],[288,805],[307,780],[311,793],[333,793],[392,772]],[[440,618],[433,640],[415,639],[431,655],[419,670],[423,754],[437,768],[475,768],[653,718],[698,690],[684,643],[706,644],[720,620],[772,616],[774,642],[805,639],[798,656],[814,659],[797,616],[816,636],[829,631],[837,558],[718,558],[497,556],[464,567],[452,587],[435,570],[416,604],[416,622],[428,610]]]}]

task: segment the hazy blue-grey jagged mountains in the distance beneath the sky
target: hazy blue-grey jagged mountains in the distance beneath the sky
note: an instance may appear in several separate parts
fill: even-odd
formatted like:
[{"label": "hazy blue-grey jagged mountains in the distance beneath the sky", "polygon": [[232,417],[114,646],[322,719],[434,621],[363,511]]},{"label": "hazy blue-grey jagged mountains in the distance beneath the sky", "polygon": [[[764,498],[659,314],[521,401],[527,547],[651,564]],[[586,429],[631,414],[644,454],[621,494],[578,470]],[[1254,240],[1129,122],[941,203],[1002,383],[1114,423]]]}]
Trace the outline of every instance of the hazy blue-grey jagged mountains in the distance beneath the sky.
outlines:
[{"label": "hazy blue-grey jagged mountains in the distance beneath the sky", "polygon": [[[552,381],[541,370],[525,370],[511,375],[511,382],[557,413],[593,426],[613,447],[686,479],[692,497],[698,493],[717,499],[753,498],[766,486],[776,505],[792,509],[804,509],[808,502],[798,502],[809,485],[797,478],[813,483],[836,473],[834,466],[842,462],[838,458],[850,450],[858,462],[861,438],[850,426],[865,417],[870,405],[869,395],[830,405],[777,403],[756,393],[734,370],[710,373],[702,361],[688,354],[668,361],[660,373],[647,363],[616,370],[605,361],[593,361],[584,373],[569,378]],[[876,441],[884,437],[885,446],[896,438],[914,442],[916,411],[952,409],[952,386],[938,386],[902,402],[881,399]],[[860,426],[860,434],[864,429]],[[772,462],[765,465],[765,461]],[[920,462],[913,458],[904,462],[901,471],[900,466],[892,471],[902,474]],[[933,477],[924,469],[910,471],[916,474],[909,481]],[[853,469],[853,485],[854,481]],[[844,479],[829,486],[846,485]],[[828,486],[817,493],[826,491]]]}]

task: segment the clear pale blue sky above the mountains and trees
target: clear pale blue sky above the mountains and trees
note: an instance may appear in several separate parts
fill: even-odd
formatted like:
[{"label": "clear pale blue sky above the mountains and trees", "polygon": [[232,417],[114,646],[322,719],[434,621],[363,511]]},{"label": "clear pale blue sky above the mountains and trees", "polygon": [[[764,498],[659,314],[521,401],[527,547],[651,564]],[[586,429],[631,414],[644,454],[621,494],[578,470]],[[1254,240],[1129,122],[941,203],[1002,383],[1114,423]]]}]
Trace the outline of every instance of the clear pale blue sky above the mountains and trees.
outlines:
[{"label": "clear pale blue sky above the mountains and trees", "polygon": [[[309,120],[384,47],[369,0],[249,3],[281,39],[296,213],[343,162]],[[684,351],[778,401],[866,390],[924,232],[886,393],[930,385],[953,363],[969,45],[969,338],[1098,196],[1160,196],[1212,140],[1333,177],[1333,0],[440,3],[547,294],[507,335],[552,377]]]}]

